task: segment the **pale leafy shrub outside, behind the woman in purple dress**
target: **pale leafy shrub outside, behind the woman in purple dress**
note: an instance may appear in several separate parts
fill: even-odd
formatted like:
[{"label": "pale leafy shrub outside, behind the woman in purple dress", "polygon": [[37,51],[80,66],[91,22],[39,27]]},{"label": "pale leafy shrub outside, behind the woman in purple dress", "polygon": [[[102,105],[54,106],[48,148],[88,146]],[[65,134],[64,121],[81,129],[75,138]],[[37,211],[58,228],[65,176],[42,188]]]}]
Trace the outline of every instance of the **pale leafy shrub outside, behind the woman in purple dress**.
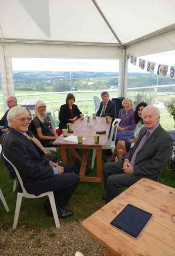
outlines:
[{"label": "pale leafy shrub outside, behind the woman in purple dress", "polygon": [[135,96],[134,105],[137,106],[140,102],[145,102],[148,105],[154,104],[155,103],[155,99],[156,99],[156,95],[155,95],[154,92],[146,91],[146,92],[143,92],[143,93],[138,93]]}]

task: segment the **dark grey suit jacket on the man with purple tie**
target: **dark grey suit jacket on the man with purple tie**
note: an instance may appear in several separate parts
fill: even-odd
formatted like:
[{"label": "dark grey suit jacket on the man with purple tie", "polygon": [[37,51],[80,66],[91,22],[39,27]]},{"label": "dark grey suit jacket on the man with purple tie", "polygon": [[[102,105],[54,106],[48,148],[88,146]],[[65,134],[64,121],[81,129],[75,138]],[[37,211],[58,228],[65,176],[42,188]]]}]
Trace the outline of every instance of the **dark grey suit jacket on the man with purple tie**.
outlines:
[{"label": "dark grey suit jacket on the man with purple tie", "polygon": [[[146,127],[141,129],[134,147],[130,149],[124,159],[131,160],[137,145],[140,143],[146,131]],[[133,174],[156,180],[159,173],[166,167],[172,154],[172,149],[172,137],[159,125],[137,152]]]}]

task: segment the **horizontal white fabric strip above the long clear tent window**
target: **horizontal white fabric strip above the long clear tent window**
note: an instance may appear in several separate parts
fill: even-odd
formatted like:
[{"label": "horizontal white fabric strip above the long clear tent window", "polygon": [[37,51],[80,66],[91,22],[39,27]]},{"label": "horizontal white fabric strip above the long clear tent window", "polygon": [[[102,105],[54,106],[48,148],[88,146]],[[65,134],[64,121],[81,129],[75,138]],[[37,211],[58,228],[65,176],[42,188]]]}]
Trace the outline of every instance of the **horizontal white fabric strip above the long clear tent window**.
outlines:
[{"label": "horizontal white fabric strip above the long clear tent window", "polygon": [[8,49],[8,57],[14,58],[119,59],[122,56],[122,50],[114,46],[37,43],[5,44]]}]

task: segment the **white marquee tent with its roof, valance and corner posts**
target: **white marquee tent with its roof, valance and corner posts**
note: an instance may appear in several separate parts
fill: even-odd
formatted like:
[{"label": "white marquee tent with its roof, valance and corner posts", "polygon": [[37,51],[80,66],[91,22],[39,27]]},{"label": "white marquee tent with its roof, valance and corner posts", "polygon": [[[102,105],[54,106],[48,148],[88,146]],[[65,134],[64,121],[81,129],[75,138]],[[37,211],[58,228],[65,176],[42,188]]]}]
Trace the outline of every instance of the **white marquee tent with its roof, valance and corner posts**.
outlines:
[{"label": "white marquee tent with its roof, valance and corner posts", "polygon": [[12,58],[119,59],[119,96],[127,90],[126,51],[175,49],[173,0],[2,0],[0,70],[4,102],[14,95]]}]

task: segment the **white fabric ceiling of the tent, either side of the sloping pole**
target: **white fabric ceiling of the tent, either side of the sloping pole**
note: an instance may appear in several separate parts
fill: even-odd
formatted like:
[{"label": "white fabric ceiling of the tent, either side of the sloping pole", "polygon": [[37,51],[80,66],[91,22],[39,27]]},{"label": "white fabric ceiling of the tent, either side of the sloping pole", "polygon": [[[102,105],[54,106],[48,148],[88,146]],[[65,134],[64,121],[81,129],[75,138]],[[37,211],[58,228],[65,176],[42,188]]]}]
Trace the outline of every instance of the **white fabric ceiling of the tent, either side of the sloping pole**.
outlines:
[{"label": "white fabric ceiling of the tent, either side of the sloping pole", "polygon": [[[97,0],[122,43],[175,23],[174,0]],[[91,0],[2,0],[0,37],[117,43]]]}]

